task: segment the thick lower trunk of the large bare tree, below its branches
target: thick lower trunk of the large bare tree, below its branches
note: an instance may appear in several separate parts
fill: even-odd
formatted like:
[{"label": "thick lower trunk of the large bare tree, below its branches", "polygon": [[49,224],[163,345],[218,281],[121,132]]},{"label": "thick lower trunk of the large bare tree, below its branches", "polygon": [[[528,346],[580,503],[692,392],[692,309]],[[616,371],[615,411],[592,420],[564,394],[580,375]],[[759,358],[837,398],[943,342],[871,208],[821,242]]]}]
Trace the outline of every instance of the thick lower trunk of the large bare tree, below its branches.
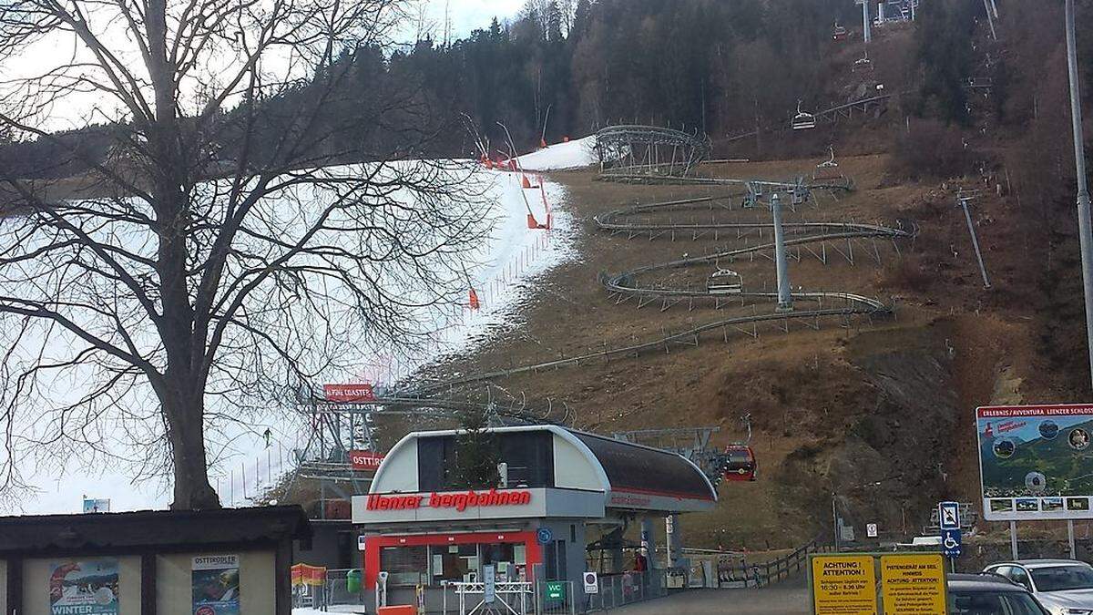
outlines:
[{"label": "thick lower trunk of the large bare tree, below its branches", "polygon": [[[174,388],[174,387],[173,387]],[[204,443],[203,394],[199,388],[174,391],[162,399],[167,419],[171,459],[175,466],[172,510],[219,509],[220,497],[209,484]]]}]

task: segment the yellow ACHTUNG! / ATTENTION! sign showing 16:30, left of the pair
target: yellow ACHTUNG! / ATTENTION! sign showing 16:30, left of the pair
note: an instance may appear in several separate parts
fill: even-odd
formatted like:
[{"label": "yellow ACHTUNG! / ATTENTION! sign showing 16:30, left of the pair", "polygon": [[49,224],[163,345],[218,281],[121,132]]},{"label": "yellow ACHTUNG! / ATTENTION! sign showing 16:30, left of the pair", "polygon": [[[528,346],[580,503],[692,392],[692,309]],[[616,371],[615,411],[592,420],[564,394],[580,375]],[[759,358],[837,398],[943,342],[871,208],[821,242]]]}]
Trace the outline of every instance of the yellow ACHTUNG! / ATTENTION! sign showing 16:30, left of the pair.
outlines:
[{"label": "yellow ACHTUNG! / ATTENTION! sign showing 16:30, left of the pair", "polygon": [[815,615],[877,615],[877,573],[870,555],[812,558]]}]

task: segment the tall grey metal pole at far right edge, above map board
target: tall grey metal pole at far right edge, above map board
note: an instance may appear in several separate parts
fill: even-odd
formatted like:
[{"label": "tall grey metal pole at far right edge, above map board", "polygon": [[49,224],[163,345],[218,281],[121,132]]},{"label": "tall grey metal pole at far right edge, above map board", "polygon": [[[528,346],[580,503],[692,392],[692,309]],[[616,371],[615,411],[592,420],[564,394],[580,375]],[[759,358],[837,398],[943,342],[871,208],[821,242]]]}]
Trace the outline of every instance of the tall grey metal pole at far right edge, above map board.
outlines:
[{"label": "tall grey metal pole at far right edge, above map board", "polygon": [[1078,236],[1082,250],[1082,281],[1085,287],[1085,347],[1090,350],[1093,378],[1093,236],[1090,223],[1090,190],[1085,181],[1085,148],[1082,140],[1082,104],[1078,82],[1078,50],[1074,35],[1074,0],[1067,0],[1067,65],[1070,72],[1070,116],[1074,129],[1074,166],[1078,175]]}]

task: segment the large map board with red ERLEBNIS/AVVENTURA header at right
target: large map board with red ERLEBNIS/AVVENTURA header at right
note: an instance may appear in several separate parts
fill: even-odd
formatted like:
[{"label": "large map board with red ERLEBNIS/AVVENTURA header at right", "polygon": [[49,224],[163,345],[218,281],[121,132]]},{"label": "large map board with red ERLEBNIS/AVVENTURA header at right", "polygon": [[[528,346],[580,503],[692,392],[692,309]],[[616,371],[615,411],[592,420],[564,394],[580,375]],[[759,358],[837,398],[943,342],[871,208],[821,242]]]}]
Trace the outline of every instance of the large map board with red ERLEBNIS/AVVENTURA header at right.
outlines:
[{"label": "large map board with red ERLEBNIS/AVVENTURA header at right", "polygon": [[1091,519],[1093,405],[976,408],[988,521]]}]

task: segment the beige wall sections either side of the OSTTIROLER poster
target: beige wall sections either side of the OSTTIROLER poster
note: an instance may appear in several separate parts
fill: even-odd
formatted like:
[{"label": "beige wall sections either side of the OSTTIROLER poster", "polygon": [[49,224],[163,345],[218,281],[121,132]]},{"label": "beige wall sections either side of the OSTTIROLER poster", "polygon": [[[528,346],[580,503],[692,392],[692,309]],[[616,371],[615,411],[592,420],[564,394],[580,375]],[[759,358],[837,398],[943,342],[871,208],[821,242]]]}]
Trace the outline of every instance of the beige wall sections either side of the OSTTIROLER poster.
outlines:
[{"label": "beige wall sections either side of the OSTTIROLER poster", "polygon": [[[155,590],[158,615],[192,615],[193,558],[200,555],[218,554],[202,552],[156,557]],[[275,613],[273,552],[244,552],[238,555],[239,611]]]}]

